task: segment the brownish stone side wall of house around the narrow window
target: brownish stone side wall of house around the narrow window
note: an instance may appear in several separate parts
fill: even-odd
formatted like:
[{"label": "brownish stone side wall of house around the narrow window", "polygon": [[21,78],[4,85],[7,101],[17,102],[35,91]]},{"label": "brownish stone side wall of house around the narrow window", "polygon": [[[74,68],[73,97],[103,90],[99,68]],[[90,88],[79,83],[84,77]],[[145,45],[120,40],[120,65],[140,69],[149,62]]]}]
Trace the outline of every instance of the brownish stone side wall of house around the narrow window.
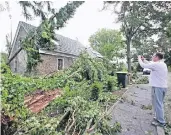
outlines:
[{"label": "brownish stone side wall of house around the narrow window", "polygon": [[73,63],[73,58],[64,56],[41,54],[41,59],[43,62],[40,62],[36,68],[38,75],[46,75],[58,71],[58,59],[64,60],[65,69],[70,67]]}]

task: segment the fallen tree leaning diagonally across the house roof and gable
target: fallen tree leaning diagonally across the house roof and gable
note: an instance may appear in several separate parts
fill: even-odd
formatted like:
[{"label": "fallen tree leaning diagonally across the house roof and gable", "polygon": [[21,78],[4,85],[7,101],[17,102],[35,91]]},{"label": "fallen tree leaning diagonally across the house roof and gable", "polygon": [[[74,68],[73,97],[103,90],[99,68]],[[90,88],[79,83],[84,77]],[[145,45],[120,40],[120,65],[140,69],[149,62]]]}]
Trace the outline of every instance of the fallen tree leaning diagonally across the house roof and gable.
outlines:
[{"label": "fallen tree leaning diagonally across the house roof and gable", "polygon": [[[19,48],[15,54],[9,59],[9,64],[15,56],[22,50],[27,52],[27,70],[31,72],[32,69],[41,61],[39,55],[39,48],[54,49],[55,30],[58,30],[65,26],[66,22],[73,17],[76,9],[82,5],[83,1],[68,2],[58,12],[53,9],[53,15],[50,18],[45,16],[43,21],[35,31],[31,31],[28,36],[21,41],[21,48]],[[38,13],[39,14],[39,13]]]}]

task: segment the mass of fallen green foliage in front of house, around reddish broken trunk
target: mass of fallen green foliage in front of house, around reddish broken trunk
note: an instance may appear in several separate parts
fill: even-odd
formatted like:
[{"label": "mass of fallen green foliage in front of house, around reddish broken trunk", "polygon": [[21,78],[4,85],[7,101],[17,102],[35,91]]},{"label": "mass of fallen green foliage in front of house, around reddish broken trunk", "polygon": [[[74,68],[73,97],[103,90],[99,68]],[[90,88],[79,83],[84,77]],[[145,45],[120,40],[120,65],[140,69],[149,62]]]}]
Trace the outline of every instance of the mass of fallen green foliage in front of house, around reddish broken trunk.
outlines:
[{"label": "mass of fallen green foliage in front of house, around reddish broken trunk", "polygon": [[[110,117],[106,114],[118,97],[103,92],[114,88],[116,77],[107,74],[102,60],[83,53],[71,68],[44,78],[13,75],[6,65],[2,66],[1,73],[2,109],[6,115],[15,118],[16,134],[83,134],[91,127],[95,127],[97,134],[119,130],[119,126],[108,125]],[[25,108],[25,95],[37,89],[56,88],[63,89],[61,97],[50,102],[39,115],[33,115]]]}]

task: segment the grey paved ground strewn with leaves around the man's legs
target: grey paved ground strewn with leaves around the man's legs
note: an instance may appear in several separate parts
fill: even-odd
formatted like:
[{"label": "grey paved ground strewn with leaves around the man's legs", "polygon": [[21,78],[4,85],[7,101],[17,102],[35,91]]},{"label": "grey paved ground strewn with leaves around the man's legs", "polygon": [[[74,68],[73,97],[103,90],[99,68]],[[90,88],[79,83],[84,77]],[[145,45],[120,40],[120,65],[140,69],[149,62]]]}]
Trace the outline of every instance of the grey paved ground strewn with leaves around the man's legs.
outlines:
[{"label": "grey paved ground strewn with leaves around the man's legs", "polygon": [[[170,88],[171,74],[169,74],[169,88],[165,99],[167,122],[171,121]],[[119,135],[162,135],[162,133],[157,134],[157,128],[151,125],[152,112],[151,89],[148,84],[132,85],[114,108],[112,123],[116,121],[121,123],[122,131]]]}]

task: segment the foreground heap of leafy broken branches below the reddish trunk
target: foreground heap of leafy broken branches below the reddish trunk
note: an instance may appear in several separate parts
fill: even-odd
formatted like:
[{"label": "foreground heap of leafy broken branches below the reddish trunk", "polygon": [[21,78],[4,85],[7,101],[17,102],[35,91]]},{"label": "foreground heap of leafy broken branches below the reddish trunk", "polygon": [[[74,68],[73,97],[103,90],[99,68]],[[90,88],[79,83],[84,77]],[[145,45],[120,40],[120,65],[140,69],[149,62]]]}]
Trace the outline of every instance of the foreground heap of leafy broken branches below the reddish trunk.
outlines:
[{"label": "foreground heap of leafy broken branches below the reddish trunk", "polygon": [[60,117],[32,116],[18,125],[15,134],[46,135],[104,135],[119,132],[121,125],[109,125],[108,112],[101,112],[99,102],[89,102],[77,96],[67,101],[65,113]]}]

